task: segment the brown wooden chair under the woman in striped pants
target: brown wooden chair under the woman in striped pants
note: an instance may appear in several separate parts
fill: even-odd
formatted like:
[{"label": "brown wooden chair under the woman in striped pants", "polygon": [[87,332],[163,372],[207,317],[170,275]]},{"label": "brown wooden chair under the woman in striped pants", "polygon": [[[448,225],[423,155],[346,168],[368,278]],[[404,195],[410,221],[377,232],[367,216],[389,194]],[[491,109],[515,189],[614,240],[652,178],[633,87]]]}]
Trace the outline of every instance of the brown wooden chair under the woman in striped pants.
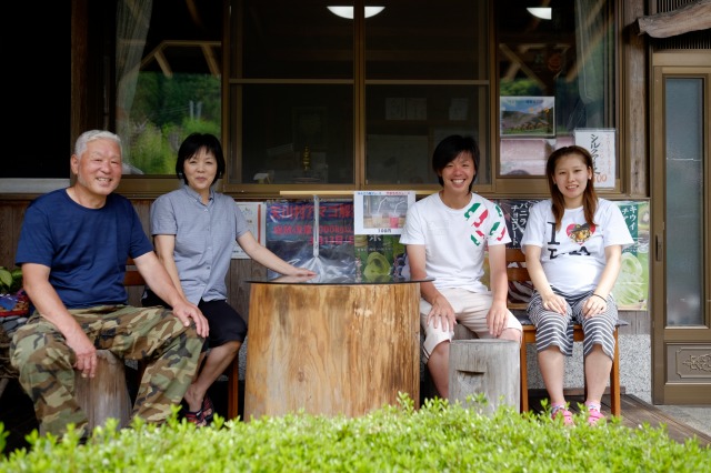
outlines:
[{"label": "brown wooden chair under the woman in striped pants", "polygon": [[[525,269],[525,254],[520,249],[507,248],[507,274],[509,276],[509,283],[530,283],[531,278],[529,271]],[[509,300],[509,310],[511,311],[525,311],[528,303],[525,302],[511,302]],[[528,316],[518,315],[519,321],[523,325],[523,336],[521,343],[521,412],[529,410],[529,389],[528,389],[528,360],[527,360],[527,345],[529,343],[535,343],[535,326],[531,323]],[[610,411],[612,415],[619,416],[621,413],[620,406],[620,348],[618,343],[618,329],[622,325],[628,325],[628,322],[618,320],[618,324],[614,328],[614,356],[612,358],[612,369],[610,370]],[[573,325],[573,340],[575,342],[582,342],[583,332],[582,325]],[[584,380],[584,371],[583,371]],[[584,383],[584,381],[583,381]],[[587,392],[587,388],[585,388]]]}]

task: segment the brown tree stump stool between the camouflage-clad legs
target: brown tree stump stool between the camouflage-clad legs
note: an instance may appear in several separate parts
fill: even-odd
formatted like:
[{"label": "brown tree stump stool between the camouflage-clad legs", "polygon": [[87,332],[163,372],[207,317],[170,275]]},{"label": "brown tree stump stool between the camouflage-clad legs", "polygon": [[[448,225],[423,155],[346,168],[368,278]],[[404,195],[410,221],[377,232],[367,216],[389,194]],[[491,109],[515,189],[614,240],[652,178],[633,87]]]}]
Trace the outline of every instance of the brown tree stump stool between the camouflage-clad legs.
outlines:
[{"label": "brown tree stump stool between the camouflage-clad legs", "polygon": [[76,397],[89,417],[89,431],[109,417],[118,419],[119,426],[126,427],[131,417],[131,397],[123,360],[108,350],[98,350],[97,358],[94,378],[81,378],[80,372],[74,375]]}]

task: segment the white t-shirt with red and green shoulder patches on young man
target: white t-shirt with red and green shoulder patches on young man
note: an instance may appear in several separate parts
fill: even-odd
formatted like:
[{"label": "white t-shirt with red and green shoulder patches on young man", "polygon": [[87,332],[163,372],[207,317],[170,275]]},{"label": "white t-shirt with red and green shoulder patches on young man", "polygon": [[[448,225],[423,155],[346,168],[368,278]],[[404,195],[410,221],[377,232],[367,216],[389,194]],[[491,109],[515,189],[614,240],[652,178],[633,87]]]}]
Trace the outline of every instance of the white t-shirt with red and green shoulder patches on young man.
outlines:
[{"label": "white t-shirt with red and green shoulder patches on young man", "polygon": [[[499,205],[475,193],[463,209],[451,209],[439,193],[414,203],[408,211],[400,243],[422,244],[427,275],[438,289],[462,288],[488,292],[481,283],[488,246],[511,241]],[[405,263],[403,275],[410,274]]]}]

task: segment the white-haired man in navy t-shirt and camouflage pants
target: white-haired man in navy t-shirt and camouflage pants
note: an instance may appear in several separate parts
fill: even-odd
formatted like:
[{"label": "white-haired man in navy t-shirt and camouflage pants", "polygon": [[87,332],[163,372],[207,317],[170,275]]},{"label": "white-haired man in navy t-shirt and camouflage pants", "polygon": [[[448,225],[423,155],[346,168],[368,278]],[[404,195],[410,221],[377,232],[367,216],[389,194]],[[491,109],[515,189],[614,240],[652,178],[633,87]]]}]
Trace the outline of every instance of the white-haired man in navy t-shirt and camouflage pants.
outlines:
[{"label": "white-haired man in navy t-shirt and camouflage pants", "polygon": [[[16,263],[34,312],[12,340],[11,363],[34,404],[42,433],[61,436],[87,415],[74,397],[74,371],[93,376],[97,350],[146,361],[133,414],[163,422],[197,370],[208,322],[186,301],[153,253],[121,180],[121,140],[101,130],[77,140],[76,183],[27,209]],[[123,286],[131,256],[151,289],[172,306],[128,305]]]}]

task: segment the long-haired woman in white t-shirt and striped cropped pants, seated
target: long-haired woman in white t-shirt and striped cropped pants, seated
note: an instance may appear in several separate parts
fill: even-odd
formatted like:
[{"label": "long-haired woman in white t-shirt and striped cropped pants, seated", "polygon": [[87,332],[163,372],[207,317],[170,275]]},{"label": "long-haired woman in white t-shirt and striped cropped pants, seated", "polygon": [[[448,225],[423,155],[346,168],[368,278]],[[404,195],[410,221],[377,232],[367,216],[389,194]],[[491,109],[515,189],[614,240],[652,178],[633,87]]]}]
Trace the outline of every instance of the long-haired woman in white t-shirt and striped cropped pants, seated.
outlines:
[{"label": "long-haired woman in white t-shirt and striped cropped pants, seated", "polygon": [[622,250],[632,244],[620,209],[599,199],[592,155],[581,147],[558,149],[545,173],[551,199],[531,208],[521,240],[535,288],[528,314],[537,328],[538,362],[552,417],[573,424],[563,395],[564,358],[572,355],[572,323],[582,324],[588,422],[604,419],[602,393],[614,354],[618,308],[612,286]]}]

